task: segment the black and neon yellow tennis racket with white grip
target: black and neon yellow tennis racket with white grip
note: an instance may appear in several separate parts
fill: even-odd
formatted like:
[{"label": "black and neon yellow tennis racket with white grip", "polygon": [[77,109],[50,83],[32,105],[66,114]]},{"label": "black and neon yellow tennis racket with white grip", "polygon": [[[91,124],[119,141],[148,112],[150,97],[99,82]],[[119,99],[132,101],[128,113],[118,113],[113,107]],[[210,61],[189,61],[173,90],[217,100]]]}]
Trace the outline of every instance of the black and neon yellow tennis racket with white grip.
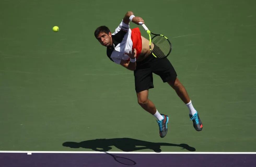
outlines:
[{"label": "black and neon yellow tennis racket with white grip", "polygon": [[[156,58],[165,58],[169,56],[172,51],[172,44],[169,39],[162,34],[154,34],[150,32],[148,27],[142,22],[139,22],[139,24],[142,25],[142,27],[146,30],[149,36],[149,49],[152,55]],[[154,35],[153,38],[150,34]],[[152,43],[154,45],[153,49],[151,48]]]}]

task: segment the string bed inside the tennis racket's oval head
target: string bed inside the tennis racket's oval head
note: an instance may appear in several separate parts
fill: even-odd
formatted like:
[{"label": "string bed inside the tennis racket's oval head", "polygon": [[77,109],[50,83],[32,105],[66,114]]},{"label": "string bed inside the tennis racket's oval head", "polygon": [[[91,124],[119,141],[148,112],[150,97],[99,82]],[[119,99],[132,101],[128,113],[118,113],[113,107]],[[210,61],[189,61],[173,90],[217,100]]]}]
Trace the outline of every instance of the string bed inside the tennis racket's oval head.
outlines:
[{"label": "string bed inside the tennis racket's oval head", "polygon": [[171,45],[169,41],[163,36],[155,36],[152,39],[152,43],[154,43],[154,49],[152,52],[158,58],[165,58],[168,56],[171,50]]}]

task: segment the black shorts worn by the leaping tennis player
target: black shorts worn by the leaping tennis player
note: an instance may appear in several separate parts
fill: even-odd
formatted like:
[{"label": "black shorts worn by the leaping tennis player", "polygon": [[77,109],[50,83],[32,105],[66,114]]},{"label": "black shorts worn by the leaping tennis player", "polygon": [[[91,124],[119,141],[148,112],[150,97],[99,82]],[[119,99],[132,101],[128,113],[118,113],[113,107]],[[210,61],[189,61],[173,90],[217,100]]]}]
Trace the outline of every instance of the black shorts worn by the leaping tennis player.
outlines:
[{"label": "black shorts worn by the leaping tennis player", "polygon": [[177,73],[167,58],[155,58],[152,54],[141,62],[136,62],[135,90],[141,92],[154,88],[153,73],[159,75],[163,82],[175,81]]}]

